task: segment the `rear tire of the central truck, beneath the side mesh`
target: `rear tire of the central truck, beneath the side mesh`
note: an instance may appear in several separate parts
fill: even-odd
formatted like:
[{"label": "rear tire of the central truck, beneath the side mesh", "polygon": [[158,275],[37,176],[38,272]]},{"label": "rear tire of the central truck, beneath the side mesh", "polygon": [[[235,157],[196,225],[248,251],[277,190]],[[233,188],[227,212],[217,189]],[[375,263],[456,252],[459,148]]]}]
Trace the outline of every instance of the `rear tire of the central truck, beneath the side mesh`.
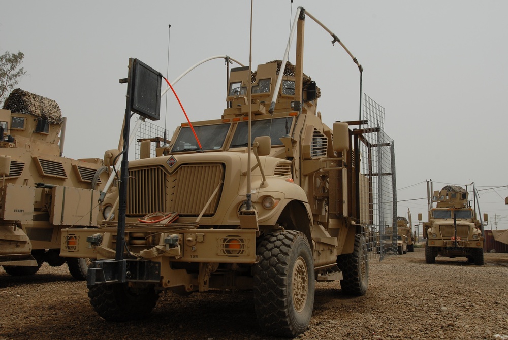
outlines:
[{"label": "rear tire of the central truck, beneath the side mesh", "polygon": [[342,293],[346,295],[362,296],[369,285],[369,258],[365,238],[361,234],[355,235],[353,253],[337,256],[337,266],[342,271],[340,280]]}]

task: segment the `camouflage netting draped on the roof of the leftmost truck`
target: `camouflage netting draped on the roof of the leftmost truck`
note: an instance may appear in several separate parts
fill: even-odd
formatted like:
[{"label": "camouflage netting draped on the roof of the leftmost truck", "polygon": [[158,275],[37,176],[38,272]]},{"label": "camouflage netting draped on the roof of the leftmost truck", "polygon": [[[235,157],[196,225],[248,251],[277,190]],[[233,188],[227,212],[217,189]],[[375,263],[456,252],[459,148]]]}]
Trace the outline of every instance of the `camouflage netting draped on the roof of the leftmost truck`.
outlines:
[{"label": "camouflage netting draped on the roof of the leftmost truck", "polygon": [[56,101],[19,88],[9,94],[4,103],[4,109],[41,117],[52,124],[60,124],[63,121]]}]

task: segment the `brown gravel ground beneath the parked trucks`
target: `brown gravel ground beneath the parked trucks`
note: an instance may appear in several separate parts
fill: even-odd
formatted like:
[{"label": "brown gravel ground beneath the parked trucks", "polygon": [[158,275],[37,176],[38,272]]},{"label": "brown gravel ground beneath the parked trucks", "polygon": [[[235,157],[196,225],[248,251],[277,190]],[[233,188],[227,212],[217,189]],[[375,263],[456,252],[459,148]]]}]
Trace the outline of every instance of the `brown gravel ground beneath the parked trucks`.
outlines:
[{"label": "brown gravel ground beneath the parked trucks", "polygon": [[[300,339],[495,339],[508,335],[508,254],[426,264],[423,249],[371,260],[367,294],[345,297],[340,283],[316,284],[309,329]],[[86,283],[66,266],[30,277],[0,269],[0,340],[275,339],[257,323],[249,292],[163,294],[152,317],[112,323],[93,312]]]}]

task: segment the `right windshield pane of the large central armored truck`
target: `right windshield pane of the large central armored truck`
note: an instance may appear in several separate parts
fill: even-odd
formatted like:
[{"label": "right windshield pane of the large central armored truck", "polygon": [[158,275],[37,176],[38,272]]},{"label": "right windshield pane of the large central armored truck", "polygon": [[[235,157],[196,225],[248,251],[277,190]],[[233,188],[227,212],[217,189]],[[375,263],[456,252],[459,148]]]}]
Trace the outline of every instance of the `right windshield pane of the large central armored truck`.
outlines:
[{"label": "right windshield pane of the large central armored truck", "polygon": [[[250,143],[252,144],[256,137],[270,136],[272,145],[282,145],[280,138],[290,134],[292,122],[293,117],[253,120],[251,122],[252,134]],[[231,147],[232,148],[246,147],[247,136],[248,136],[248,121],[239,122],[238,126],[236,127],[233,140],[231,141]]]}]

